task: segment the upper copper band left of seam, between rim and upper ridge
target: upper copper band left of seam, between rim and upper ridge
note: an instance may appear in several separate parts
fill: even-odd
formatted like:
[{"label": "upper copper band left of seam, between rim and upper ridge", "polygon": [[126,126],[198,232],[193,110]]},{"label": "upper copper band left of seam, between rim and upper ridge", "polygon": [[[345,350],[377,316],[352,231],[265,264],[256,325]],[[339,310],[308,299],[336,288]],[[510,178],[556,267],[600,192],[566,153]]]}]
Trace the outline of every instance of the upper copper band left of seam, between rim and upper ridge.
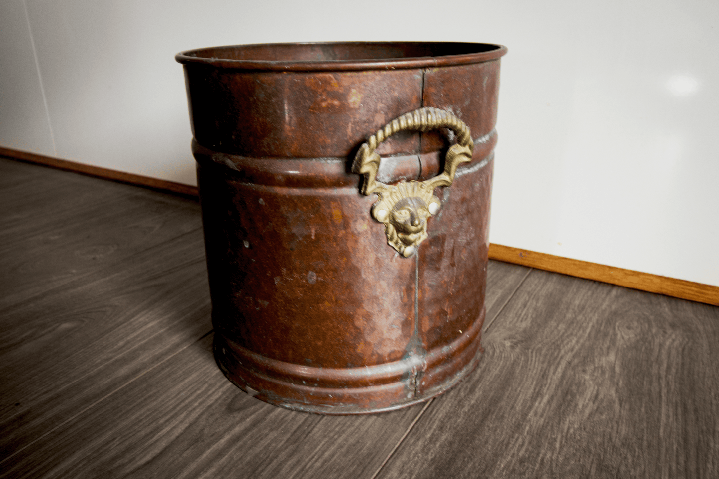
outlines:
[{"label": "upper copper band left of seam, between rim and upper ridge", "polygon": [[[267,73],[186,66],[193,136],[221,152],[272,158],[347,158],[357,139],[421,106],[416,70]],[[417,152],[398,135],[380,154]]]}]

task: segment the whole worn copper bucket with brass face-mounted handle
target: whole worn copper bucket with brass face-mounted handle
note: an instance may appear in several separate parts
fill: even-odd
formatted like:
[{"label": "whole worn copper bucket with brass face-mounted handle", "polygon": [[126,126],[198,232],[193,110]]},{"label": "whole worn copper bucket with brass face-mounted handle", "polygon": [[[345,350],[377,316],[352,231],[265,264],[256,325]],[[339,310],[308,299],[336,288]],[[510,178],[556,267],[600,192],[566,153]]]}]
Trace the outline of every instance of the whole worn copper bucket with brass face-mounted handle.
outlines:
[{"label": "whole worn copper bucket with brass face-mounted handle", "polygon": [[475,368],[505,52],[353,42],[175,57],[215,355],[233,383],[298,411],[364,414]]}]

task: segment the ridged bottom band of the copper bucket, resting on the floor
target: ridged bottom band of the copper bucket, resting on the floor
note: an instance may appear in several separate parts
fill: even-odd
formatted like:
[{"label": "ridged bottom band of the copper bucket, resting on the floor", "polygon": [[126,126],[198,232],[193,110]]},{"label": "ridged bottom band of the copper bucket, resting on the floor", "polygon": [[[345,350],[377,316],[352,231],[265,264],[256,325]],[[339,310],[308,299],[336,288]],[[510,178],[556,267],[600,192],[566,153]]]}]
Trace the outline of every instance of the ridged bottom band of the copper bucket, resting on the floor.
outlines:
[{"label": "ridged bottom band of the copper bucket, resting on the floor", "polygon": [[393,411],[439,396],[477,367],[484,311],[472,329],[423,356],[361,368],[312,368],[258,355],[221,334],[214,352],[226,377],[275,406],[314,414]]}]

